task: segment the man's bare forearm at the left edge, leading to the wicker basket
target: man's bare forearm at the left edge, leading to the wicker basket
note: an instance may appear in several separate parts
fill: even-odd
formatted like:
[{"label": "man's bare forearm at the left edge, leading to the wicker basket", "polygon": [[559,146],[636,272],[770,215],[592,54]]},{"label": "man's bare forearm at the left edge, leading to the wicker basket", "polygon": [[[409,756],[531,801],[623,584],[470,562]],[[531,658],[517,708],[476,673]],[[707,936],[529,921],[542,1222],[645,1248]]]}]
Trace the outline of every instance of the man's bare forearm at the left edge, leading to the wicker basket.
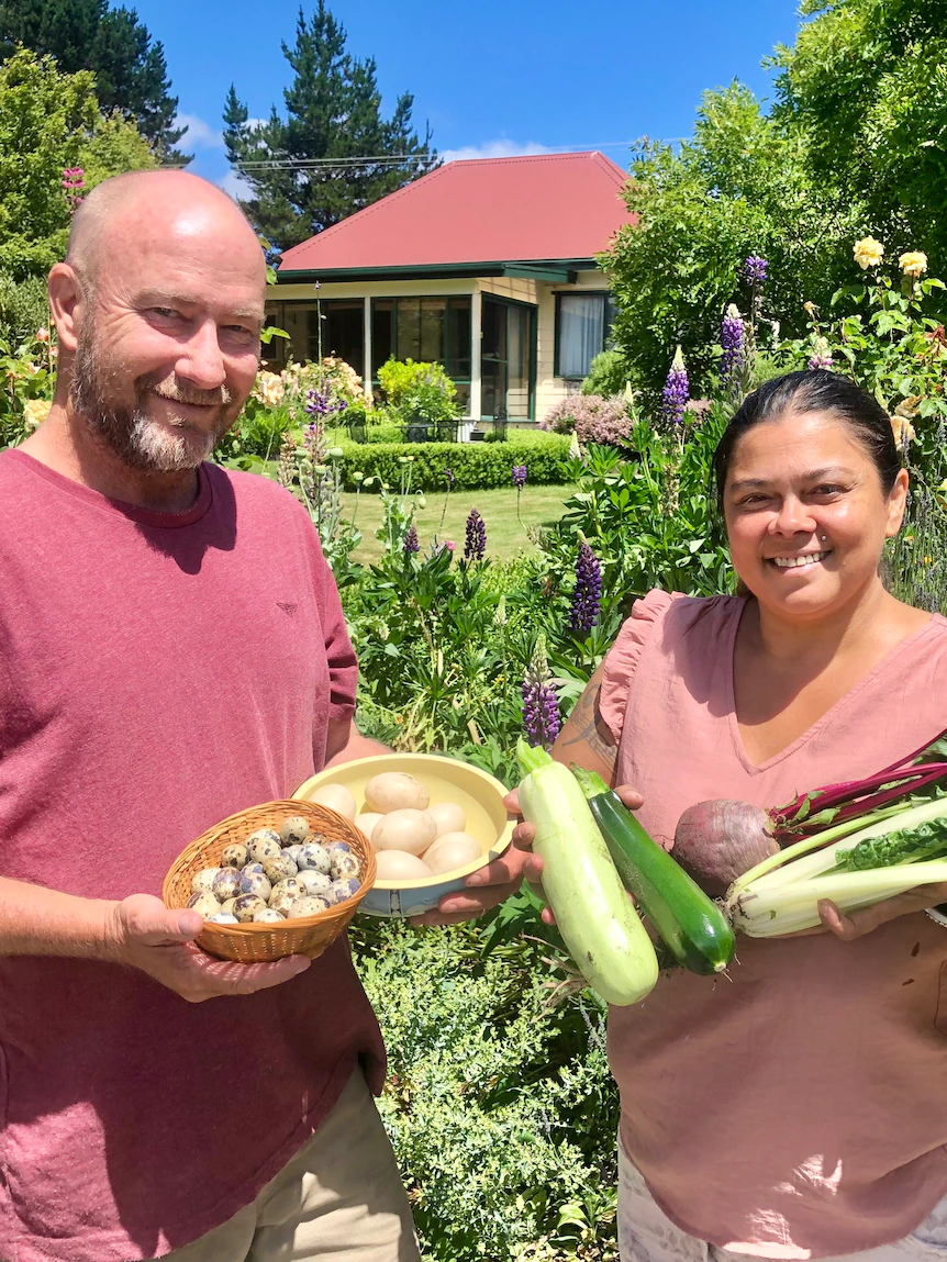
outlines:
[{"label": "man's bare forearm at the left edge, leading to the wicker basket", "polygon": [[119,958],[111,931],[116,904],[77,899],[27,881],[0,877],[0,955]]}]

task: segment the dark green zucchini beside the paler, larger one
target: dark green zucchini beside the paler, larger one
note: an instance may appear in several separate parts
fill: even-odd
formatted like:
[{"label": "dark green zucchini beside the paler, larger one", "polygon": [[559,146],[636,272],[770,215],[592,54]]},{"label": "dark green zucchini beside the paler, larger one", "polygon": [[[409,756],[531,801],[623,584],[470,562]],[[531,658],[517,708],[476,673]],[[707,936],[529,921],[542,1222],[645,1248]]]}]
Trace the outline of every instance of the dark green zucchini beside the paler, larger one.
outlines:
[{"label": "dark green zucchini beside the paler, larger one", "polygon": [[692,973],[722,973],[734,958],[736,939],[717,904],[648,835],[601,776],[575,766],[572,774],[625,887],[674,959]]}]

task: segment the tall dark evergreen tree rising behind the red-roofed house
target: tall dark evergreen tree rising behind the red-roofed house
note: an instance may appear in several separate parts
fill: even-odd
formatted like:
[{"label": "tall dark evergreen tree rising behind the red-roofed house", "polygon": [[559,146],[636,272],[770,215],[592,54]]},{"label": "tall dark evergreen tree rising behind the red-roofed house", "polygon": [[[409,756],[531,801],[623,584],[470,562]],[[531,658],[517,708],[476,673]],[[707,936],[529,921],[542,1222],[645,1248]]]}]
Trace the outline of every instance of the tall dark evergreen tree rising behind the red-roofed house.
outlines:
[{"label": "tall dark evergreen tree rising behind the red-roofed house", "polygon": [[265,122],[250,125],[232,86],[227,95],[227,155],[251,191],[241,204],[274,249],[393,193],[436,160],[431,130],[422,140],[412,127],[413,97],[399,96],[384,119],[374,58],[357,61],[345,45],[345,28],[318,0],[308,23],[299,10],[295,47],[283,44],[295,72],[283,93],[287,119],[274,106]]}]

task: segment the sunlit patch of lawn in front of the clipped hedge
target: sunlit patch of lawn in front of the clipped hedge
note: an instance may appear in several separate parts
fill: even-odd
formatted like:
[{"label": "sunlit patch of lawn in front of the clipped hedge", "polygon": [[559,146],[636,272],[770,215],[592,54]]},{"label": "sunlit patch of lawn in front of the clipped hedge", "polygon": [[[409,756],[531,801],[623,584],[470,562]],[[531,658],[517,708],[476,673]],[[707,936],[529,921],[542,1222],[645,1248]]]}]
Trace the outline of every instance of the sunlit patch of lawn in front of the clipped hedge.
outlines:
[{"label": "sunlit patch of lawn in front of the clipped hedge", "polygon": [[[569,495],[567,486],[525,486],[520,498],[520,521],[516,520],[516,492],[513,487],[500,487],[492,491],[453,491],[447,500],[447,512],[441,526],[444,509],[443,495],[427,497],[426,507],[418,509],[415,525],[422,548],[438,539],[452,539],[458,553],[463,549],[465,524],[471,509],[476,509],[486,524],[486,550],[496,560],[510,560],[518,553],[534,551],[534,545],[527,538],[525,526],[551,526],[562,516],[562,501]],[[355,495],[343,497],[346,512],[355,507]],[[354,558],[362,563],[381,557],[381,543],[375,531],[381,525],[381,500],[367,492],[359,496],[357,525],[361,530],[361,544]]]}]

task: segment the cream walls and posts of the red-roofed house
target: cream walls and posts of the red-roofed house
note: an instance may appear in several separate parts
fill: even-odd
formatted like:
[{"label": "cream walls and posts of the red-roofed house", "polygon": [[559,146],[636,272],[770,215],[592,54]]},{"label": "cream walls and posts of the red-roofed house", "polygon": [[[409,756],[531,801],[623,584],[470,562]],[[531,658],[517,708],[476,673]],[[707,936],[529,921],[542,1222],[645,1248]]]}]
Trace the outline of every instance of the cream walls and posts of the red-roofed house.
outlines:
[{"label": "cream walls and posts of the red-roofed house", "polygon": [[[578,390],[578,382],[566,381],[557,377],[556,367],[556,295],[577,293],[581,290],[605,290],[609,288],[607,278],[599,269],[580,271],[576,274],[576,283],[557,284],[544,280],[532,280],[521,276],[481,276],[481,278],[456,278],[439,280],[376,280],[376,281],[327,281],[319,285],[292,285],[284,284],[271,286],[266,294],[268,302],[306,302],[313,303],[330,298],[360,298],[365,302],[365,351],[366,365],[371,363],[374,374],[378,365],[371,361],[371,299],[372,298],[436,298],[450,294],[471,294],[471,329],[472,329],[472,379],[470,392],[470,414],[480,416],[481,390],[480,390],[480,327],[481,327],[481,300],[484,294],[495,294],[497,298],[509,298],[514,302],[528,303],[537,308],[537,375],[535,375],[535,420],[545,416],[549,409],[569,394]],[[367,371],[367,369],[366,369]],[[530,422],[516,422],[515,424],[529,425]]]}]

